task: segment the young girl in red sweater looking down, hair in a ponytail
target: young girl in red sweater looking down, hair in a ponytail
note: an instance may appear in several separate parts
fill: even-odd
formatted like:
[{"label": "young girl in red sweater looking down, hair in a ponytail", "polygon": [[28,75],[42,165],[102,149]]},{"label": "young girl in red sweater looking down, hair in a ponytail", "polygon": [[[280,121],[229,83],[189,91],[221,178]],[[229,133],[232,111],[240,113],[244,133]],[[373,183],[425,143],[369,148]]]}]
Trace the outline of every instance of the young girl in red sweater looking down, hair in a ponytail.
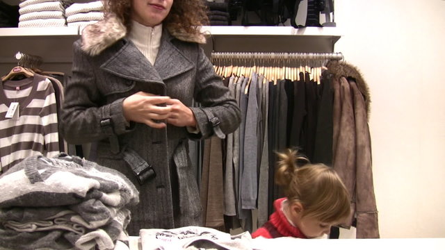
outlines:
[{"label": "young girl in red sweater looking down, hair in a ponytail", "polygon": [[348,191],[334,169],[309,164],[291,149],[278,158],[275,183],[286,198],[274,201],[275,213],[252,238],[317,238],[350,215]]}]

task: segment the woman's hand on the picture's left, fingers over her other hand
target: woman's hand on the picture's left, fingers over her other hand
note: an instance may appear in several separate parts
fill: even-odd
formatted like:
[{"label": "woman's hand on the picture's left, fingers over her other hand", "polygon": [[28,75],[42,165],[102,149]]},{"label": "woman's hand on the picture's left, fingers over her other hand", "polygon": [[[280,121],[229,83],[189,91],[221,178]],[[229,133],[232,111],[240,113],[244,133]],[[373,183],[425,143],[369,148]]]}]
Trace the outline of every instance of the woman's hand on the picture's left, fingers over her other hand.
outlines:
[{"label": "woman's hand on the picture's left, fingers over her other hand", "polygon": [[[162,97],[147,92],[137,92],[124,99],[122,108],[127,121],[140,122],[152,128],[164,128],[171,106],[158,106],[168,101],[170,97]],[[158,121],[155,121],[158,120]]]}]

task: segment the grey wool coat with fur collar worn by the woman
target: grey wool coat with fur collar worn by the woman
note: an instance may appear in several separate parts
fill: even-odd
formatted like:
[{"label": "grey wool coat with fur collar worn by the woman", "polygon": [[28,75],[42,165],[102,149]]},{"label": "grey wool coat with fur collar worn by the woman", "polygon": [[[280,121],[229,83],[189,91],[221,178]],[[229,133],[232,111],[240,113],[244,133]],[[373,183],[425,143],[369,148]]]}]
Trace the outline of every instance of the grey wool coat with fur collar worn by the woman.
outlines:
[{"label": "grey wool coat with fur collar worn by the woman", "polygon": [[[203,37],[164,25],[151,65],[126,34],[122,23],[109,15],[87,26],[74,42],[61,130],[69,143],[97,142],[95,161],[122,172],[138,188],[140,203],[131,208],[130,235],[138,235],[140,228],[200,226],[202,209],[187,142],[232,133],[241,122],[240,111],[200,48]],[[158,129],[128,123],[122,101],[138,91],[179,99],[188,107],[193,99],[201,103],[191,108],[200,133],[170,124]],[[139,184],[124,160],[127,150],[151,165],[156,177]]]}]

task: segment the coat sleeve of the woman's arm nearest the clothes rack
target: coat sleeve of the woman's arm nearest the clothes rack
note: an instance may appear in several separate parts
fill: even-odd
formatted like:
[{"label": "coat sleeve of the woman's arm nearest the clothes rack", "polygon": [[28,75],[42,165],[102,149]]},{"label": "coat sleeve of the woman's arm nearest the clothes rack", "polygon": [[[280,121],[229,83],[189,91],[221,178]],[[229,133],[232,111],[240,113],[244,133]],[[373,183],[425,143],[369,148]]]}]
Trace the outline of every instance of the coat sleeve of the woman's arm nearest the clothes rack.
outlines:
[{"label": "coat sleeve of the woman's arm nearest the clothes rack", "polygon": [[[190,134],[195,139],[208,138],[220,128],[224,134],[232,133],[241,122],[241,112],[220,76],[216,75],[209,58],[202,48],[197,56],[195,101],[202,106],[191,108],[195,115],[200,134]],[[216,119],[212,118],[216,117]],[[215,126],[215,124],[218,124]],[[198,138],[200,137],[200,138]]]}]

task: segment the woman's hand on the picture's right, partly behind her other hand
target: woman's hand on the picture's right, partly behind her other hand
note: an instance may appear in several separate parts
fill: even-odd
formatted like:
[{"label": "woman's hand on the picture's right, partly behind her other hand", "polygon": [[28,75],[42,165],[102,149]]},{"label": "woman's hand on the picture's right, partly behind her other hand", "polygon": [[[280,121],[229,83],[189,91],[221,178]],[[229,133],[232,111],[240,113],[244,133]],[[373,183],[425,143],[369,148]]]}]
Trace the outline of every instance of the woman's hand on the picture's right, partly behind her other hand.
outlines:
[{"label": "woman's hand on the picture's right, partly behind her other hand", "polygon": [[171,106],[171,111],[165,122],[179,127],[188,126],[196,128],[195,115],[184,103],[178,99],[169,99],[165,104]]}]

